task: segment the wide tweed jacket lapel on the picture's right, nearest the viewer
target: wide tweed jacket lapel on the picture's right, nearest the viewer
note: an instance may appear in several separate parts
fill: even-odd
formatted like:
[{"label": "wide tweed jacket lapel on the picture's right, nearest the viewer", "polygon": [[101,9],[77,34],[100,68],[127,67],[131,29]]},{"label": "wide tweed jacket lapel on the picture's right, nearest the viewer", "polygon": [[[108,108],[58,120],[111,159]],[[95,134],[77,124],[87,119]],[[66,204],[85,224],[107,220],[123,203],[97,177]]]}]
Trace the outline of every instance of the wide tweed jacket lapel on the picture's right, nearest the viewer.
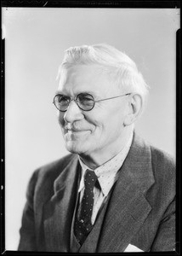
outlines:
[{"label": "wide tweed jacket lapel on the picture's right, nearest the viewer", "polygon": [[145,192],[154,183],[151,151],[134,134],[108,205],[98,252],[123,252],[151,212]]}]

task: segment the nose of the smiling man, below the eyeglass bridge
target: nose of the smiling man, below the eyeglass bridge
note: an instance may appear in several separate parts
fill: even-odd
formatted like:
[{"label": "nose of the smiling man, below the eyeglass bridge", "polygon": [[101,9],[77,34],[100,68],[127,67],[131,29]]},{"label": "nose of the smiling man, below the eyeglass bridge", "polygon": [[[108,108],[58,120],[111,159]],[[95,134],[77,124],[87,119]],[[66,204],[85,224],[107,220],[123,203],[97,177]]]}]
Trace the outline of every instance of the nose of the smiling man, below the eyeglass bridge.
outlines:
[{"label": "nose of the smiling man, below the eyeglass bridge", "polygon": [[67,123],[73,123],[74,121],[81,120],[84,118],[82,109],[77,106],[75,101],[71,101],[69,107],[65,111],[64,120]]}]

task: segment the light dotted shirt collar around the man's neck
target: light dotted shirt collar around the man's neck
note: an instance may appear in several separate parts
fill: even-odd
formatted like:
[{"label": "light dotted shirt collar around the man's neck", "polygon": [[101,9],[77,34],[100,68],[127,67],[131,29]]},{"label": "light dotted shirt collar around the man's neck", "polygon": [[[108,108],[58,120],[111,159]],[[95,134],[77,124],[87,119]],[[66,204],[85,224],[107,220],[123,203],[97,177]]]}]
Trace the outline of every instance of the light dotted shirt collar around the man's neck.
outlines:
[{"label": "light dotted shirt collar around the man's neck", "polygon": [[109,194],[112,185],[117,180],[117,172],[121,168],[124,160],[126,159],[128,155],[129,148],[131,147],[133,140],[133,133],[128,139],[128,143],[122,148],[122,150],[111,160],[108,160],[103,164],[102,166],[99,166],[95,170],[88,168],[88,166],[85,165],[85,163],[81,160],[81,158],[78,156],[80,165],[82,166],[82,177],[80,181],[80,186],[78,189],[78,192],[80,192],[84,188],[84,174],[86,170],[91,170],[95,172],[95,174],[98,177],[98,181],[100,183],[100,187],[102,189],[103,194],[106,196]]}]

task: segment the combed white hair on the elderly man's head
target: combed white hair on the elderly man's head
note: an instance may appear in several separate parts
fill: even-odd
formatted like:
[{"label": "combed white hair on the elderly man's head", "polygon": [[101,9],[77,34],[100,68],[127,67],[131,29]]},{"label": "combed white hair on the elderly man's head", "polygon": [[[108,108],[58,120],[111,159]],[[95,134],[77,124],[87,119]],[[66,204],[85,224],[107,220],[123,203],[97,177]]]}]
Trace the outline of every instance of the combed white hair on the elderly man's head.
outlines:
[{"label": "combed white hair on the elderly man's head", "polygon": [[66,49],[58,76],[61,75],[63,69],[91,64],[99,64],[103,71],[114,78],[115,83],[124,93],[139,93],[145,102],[148,85],[139,73],[136,64],[128,55],[108,44],[82,45]]}]

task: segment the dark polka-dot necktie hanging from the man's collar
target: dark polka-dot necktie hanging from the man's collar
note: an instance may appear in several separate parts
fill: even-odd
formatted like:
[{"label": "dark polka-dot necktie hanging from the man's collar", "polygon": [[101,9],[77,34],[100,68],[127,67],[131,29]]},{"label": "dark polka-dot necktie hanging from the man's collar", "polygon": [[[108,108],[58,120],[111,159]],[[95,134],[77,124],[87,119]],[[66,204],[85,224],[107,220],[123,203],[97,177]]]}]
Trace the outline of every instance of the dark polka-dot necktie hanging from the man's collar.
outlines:
[{"label": "dark polka-dot necktie hanging from the man's collar", "polygon": [[94,206],[94,184],[97,181],[94,171],[87,170],[84,177],[85,189],[82,196],[82,202],[78,209],[75,222],[75,236],[80,244],[85,241],[88,233],[92,230],[91,217]]}]

